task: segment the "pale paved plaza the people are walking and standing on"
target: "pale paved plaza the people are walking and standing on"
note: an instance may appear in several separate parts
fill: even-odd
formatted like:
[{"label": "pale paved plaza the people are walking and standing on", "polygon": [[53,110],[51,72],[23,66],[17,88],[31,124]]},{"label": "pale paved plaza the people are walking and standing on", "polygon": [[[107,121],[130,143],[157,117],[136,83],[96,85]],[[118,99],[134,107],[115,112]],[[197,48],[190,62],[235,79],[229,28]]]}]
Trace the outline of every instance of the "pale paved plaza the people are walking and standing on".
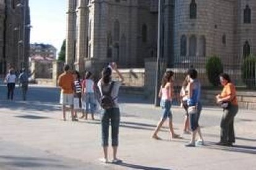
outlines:
[{"label": "pale paved plaza the people are walking and standing on", "polygon": [[[186,148],[189,135],[182,134],[184,110],[174,106],[174,128],[182,139],[170,139],[167,124],[151,139],[161,109],[140,96],[122,94],[121,127],[117,156],[121,164],[98,161],[100,114],[96,120],[61,121],[59,90],[30,86],[22,101],[16,87],[14,101],[6,100],[0,87],[0,169],[255,169],[256,111],[239,110],[234,147],[216,146],[222,111],[204,107],[200,119],[206,145]],[[89,116],[90,118],[90,116]],[[111,150],[110,150],[111,151]],[[111,154],[109,154],[111,158]]]}]

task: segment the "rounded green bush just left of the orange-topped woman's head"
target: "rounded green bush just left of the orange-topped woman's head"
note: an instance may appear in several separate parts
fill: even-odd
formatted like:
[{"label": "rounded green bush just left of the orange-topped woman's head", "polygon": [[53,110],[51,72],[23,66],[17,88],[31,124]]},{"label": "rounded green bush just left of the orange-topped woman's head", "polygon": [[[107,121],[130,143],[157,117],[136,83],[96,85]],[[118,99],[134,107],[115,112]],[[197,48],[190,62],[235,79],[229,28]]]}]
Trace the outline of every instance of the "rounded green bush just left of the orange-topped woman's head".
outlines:
[{"label": "rounded green bush just left of the orange-topped woman's head", "polygon": [[220,57],[217,55],[212,55],[207,60],[207,64],[205,66],[207,71],[208,80],[213,86],[220,85],[220,74],[223,73],[223,65],[221,63]]}]

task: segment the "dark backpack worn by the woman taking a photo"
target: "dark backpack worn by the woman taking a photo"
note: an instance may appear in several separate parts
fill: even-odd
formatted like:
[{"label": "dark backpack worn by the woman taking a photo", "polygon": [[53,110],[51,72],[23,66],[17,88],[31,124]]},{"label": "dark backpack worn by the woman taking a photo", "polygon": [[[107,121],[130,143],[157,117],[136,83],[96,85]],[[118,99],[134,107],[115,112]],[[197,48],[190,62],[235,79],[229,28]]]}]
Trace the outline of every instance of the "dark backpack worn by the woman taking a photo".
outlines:
[{"label": "dark backpack worn by the woman taking a photo", "polygon": [[101,85],[101,98],[100,98],[100,105],[103,109],[108,109],[108,108],[113,108],[114,107],[114,100],[116,99],[116,97],[113,99],[113,97],[111,97],[111,91],[113,89],[114,86],[114,82],[112,81],[109,87],[108,92],[103,92],[102,91],[102,85]]}]

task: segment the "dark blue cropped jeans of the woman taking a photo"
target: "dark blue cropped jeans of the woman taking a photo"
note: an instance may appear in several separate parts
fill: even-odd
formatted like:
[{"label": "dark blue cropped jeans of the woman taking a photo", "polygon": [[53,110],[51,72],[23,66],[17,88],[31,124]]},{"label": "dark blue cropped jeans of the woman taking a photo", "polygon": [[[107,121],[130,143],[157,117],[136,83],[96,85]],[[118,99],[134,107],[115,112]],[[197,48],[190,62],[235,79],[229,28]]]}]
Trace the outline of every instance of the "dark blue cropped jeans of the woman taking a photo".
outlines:
[{"label": "dark blue cropped jeans of the woman taking a photo", "polygon": [[109,121],[111,124],[111,140],[112,146],[118,145],[118,132],[120,123],[120,111],[119,108],[106,109],[101,118],[101,133],[102,133],[102,145],[103,147],[108,146],[108,128]]}]

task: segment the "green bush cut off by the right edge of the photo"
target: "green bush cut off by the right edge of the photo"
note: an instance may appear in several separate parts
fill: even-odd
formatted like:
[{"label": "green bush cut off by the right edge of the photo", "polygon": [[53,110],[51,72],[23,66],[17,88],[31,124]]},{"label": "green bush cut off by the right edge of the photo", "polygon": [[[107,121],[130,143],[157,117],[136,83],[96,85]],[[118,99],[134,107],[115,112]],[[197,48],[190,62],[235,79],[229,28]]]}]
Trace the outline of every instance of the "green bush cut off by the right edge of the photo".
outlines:
[{"label": "green bush cut off by the right edge of the photo", "polygon": [[250,55],[242,63],[242,79],[248,87],[255,86],[256,57]]}]

